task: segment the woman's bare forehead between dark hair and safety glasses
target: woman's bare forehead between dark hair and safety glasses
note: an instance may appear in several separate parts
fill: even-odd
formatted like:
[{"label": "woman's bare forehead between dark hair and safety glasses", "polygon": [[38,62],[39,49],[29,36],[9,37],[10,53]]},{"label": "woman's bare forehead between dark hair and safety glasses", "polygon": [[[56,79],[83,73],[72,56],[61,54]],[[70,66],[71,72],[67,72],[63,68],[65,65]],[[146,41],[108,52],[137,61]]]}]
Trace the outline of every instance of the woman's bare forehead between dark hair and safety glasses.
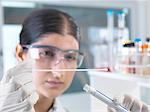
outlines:
[{"label": "woman's bare forehead between dark hair and safety glasses", "polygon": [[78,41],[71,35],[60,35],[60,34],[46,34],[43,35],[39,41],[33,45],[51,45],[58,47],[63,50],[67,49],[79,49]]}]

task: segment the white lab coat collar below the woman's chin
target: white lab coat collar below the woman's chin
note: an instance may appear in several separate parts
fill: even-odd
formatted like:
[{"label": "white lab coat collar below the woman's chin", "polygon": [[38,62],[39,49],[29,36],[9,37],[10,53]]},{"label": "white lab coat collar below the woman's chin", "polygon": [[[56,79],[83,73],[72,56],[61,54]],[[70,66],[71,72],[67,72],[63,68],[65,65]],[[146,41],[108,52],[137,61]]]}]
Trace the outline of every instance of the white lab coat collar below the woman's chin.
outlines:
[{"label": "white lab coat collar below the woman's chin", "polygon": [[66,111],[66,109],[60,103],[60,101],[56,99],[53,107],[48,112],[68,112],[68,111]]}]

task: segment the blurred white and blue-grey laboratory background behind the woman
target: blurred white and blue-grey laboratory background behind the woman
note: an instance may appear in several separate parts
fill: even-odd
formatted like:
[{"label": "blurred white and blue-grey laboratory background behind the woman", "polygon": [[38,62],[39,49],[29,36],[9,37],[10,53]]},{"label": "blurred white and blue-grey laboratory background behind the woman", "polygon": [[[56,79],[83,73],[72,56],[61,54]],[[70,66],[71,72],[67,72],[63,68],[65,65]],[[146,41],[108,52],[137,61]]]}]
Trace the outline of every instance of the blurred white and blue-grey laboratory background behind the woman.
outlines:
[{"label": "blurred white and blue-grey laboratory background behind the woman", "polygon": [[85,93],[87,83],[110,97],[131,94],[150,104],[149,0],[1,0],[0,79],[17,61],[21,23],[33,10],[69,13],[81,31],[83,69],[60,97],[72,112],[106,112],[106,105]]}]

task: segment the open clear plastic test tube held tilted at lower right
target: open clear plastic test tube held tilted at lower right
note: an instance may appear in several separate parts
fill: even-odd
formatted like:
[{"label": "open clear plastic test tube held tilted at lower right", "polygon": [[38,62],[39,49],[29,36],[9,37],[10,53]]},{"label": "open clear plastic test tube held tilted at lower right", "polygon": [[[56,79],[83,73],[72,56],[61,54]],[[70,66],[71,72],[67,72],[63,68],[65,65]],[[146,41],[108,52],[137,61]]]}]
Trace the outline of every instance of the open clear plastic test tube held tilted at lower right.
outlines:
[{"label": "open clear plastic test tube held tilted at lower right", "polygon": [[99,100],[103,101],[108,106],[114,108],[115,110],[117,110],[117,112],[129,112],[127,109],[125,109],[125,107],[121,106],[121,104],[112,100],[111,98],[109,98],[105,94],[101,93],[100,91],[96,90],[95,88],[93,88],[87,84],[83,87],[83,90],[92,94],[93,96],[95,96]]}]

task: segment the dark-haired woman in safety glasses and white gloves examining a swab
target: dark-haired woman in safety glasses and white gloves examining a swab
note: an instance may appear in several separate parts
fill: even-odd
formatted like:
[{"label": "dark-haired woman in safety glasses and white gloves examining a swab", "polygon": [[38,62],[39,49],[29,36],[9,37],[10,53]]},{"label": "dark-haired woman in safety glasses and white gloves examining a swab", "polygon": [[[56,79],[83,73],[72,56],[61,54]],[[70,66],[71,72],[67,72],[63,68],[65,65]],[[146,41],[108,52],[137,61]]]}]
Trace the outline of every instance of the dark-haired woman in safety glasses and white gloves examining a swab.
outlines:
[{"label": "dark-haired woman in safety glasses and white gloves examining a swab", "polygon": [[[82,63],[79,40],[79,29],[68,14],[52,9],[31,13],[23,22],[16,47],[20,63],[0,84],[0,112],[67,112],[57,96],[74,77],[75,71],[67,69]],[[150,112],[132,97],[125,96],[123,104],[131,112]]]}]

